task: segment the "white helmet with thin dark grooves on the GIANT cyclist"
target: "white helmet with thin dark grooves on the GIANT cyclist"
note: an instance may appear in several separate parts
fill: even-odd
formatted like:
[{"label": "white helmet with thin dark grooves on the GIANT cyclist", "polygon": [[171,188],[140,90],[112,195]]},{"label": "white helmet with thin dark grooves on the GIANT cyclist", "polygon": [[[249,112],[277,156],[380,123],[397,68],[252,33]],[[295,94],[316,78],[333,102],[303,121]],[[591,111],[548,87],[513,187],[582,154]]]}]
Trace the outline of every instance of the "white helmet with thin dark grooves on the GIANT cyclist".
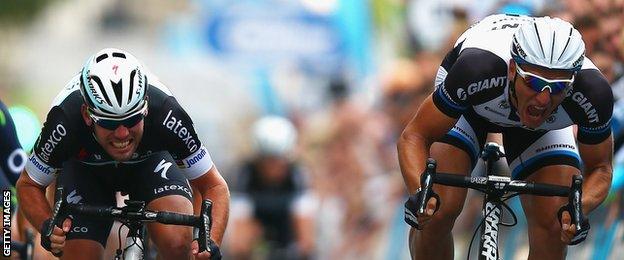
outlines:
[{"label": "white helmet with thin dark grooves on the GIANT cyclist", "polygon": [[585,43],[570,23],[559,18],[537,17],[514,33],[511,56],[520,65],[577,72],[585,58]]}]

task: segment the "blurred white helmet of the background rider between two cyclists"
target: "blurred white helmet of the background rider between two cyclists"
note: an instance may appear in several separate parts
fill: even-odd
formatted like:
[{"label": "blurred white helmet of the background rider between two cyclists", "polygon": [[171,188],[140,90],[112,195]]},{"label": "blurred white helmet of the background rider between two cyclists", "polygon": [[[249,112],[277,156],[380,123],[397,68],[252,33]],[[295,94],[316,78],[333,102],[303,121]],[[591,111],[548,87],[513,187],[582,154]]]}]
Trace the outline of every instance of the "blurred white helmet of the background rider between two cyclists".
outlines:
[{"label": "blurred white helmet of the background rider between two cyclists", "polygon": [[252,138],[259,154],[287,156],[297,142],[297,130],[286,118],[265,116],[253,124]]}]

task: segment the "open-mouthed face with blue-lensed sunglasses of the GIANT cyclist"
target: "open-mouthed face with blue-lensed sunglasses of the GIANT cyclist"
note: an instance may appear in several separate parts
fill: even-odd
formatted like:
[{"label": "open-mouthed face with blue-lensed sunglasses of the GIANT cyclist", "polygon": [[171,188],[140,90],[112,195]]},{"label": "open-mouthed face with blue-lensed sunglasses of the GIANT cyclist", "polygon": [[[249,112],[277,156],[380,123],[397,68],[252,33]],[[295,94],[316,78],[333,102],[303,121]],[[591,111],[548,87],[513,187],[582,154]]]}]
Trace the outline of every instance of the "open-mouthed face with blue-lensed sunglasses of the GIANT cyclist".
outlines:
[{"label": "open-mouthed face with blue-lensed sunglasses of the GIANT cyclist", "polygon": [[569,80],[572,74],[530,66],[521,67],[519,72],[516,66],[513,61],[510,62],[509,73],[511,79],[515,78],[514,84],[516,96],[518,97],[516,108],[518,109],[520,121],[525,126],[537,128],[561,104],[570,88],[557,88],[555,85],[561,87],[563,85],[559,82],[545,84],[545,81],[540,81],[541,79],[536,79],[535,77],[532,78],[530,75],[537,75],[547,80]]}]

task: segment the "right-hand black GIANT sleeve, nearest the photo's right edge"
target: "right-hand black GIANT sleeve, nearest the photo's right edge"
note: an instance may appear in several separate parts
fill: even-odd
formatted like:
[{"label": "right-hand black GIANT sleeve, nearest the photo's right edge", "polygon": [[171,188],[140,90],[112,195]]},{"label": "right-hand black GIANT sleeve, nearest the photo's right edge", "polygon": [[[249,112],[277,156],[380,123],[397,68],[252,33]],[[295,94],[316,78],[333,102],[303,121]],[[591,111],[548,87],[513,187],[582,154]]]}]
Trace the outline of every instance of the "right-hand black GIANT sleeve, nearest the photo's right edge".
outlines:
[{"label": "right-hand black GIANT sleeve, nearest the photo's right edge", "polygon": [[596,69],[581,70],[574,83],[568,102],[580,118],[578,140],[584,144],[598,144],[611,135],[613,92],[609,83]]}]

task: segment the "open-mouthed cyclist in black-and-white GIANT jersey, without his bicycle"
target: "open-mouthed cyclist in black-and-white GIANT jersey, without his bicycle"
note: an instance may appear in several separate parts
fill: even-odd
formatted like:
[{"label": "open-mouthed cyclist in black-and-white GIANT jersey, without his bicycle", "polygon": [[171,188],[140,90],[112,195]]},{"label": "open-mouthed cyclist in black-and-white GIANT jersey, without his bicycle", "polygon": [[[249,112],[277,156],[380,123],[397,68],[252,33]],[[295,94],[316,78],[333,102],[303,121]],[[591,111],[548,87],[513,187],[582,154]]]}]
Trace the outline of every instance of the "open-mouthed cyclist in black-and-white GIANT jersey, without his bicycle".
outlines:
[{"label": "open-mouthed cyclist in black-and-white GIANT jersey, without his bicycle", "polygon": [[[460,36],[398,142],[414,259],[453,258],[451,230],[466,198],[466,189],[435,185],[427,212],[418,214],[413,198],[425,160],[436,159],[439,172],[468,175],[488,132],[502,133],[512,178],[569,186],[583,174],[585,216],[602,203],[612,176],[613,94],[584,52],[579,32],[558,18],[492,15]],[[580,232],[571,225],[567,198],[521,201],[529,259],[562,259],[568,244],[587,236],[586,220]]]}]

